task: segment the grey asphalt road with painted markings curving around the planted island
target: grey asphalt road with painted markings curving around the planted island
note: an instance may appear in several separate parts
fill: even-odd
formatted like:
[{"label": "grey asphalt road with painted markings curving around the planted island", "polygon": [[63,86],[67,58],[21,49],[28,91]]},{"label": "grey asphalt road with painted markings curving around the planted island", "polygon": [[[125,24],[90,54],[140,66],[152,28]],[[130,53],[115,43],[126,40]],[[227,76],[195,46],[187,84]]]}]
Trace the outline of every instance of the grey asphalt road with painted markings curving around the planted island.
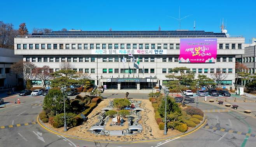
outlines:
[{"label": "grey asphalt road with painted markings curving around the planted island", "polygon": [[[124,97],[124,93],[117,95],[103,93],[103,97],[107,98],[121,98],[122,95]],[[147,94],[135,93],[130,94],[129,97],[147,99]],[[12,102],[18,98],[21,104],[13,104]],[[0,128],[0,147],[75,147],[77,145],[80,147],[130,147],[131,145],[134,147],[253,147],[256,143],[256,137],[246,135],[246,133],[256,135],[256,118],[232,111],[205,113],[207,117],[205,126],[174,140],[108,144],[65,138],[45,130],[39,124],[33,124],[42,110],[42,105],[40,105],[42,102],[42,96],[12,96],[5,99],[7,107],[0,108],[0,126],[5,126],[5,128]],[[188,105],[195,105],[194,97],[189,97],[186,102],[189,103]],[[202,110],[223,109],[223,107],[203,102],[199,103],[199,107]],[[17,127],[16,124],[21,126]],[[10,128],[9,125],[13,127]]]}]

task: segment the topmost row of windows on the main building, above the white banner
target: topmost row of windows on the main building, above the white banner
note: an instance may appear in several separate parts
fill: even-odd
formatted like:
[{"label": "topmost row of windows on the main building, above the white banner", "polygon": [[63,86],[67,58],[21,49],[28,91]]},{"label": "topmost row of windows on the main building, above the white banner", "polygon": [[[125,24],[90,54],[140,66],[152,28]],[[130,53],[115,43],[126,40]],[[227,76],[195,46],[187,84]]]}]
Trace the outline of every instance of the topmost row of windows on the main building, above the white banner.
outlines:
[{"label": "topmost row of windows on the main building, above the white banner", "polygon": [[[34,46],[35,45],[35,46]],[[179,50],[180,48],[180,44],[137,44],[137,43],[133,43],[133,44],[17,44],[17,49],[20,50],[21,46],[23,47],[23,50],[26,49],[30,49],[33,50],[34,48],[36,50],[39,49],[176,49]],[[64,48],[65,47],[65,48]],[[238,49],[242,49],[242,44],[238,43],[237,45]],[[219,44],[219,49],[224,49],[223,48],[223,44]],[[230,49],[230,44],[226,43],[225,44],[225,49]],[[236,44],[232,43],[231,44],[231,49],[236,49]]]}]

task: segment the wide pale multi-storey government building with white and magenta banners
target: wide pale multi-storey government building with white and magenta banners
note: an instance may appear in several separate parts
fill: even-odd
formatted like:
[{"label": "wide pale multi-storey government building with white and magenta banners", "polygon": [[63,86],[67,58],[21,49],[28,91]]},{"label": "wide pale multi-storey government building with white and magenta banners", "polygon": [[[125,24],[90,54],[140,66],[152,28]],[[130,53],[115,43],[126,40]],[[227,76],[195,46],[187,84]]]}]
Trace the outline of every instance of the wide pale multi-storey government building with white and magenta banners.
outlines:
[{"label": "wide pale multi-storey government building with white and magenta banners", "polygon": [[[186,43],[189,40],[192,41]],[[200,43],[200,40],[214,43]],[[96,85],[107,88],[144,89],[152,88],[152,84],[166,85],[165,75],[179,74],[170,70],[184,66],[196,77],[198,74],[210,77],[216,72],[228,74],[222,85],[234,88],[235,55],[244,54],[244,40],[242,36],[205,31],[75,30],[16,36],[14,50],[16,55],[23,55],[24,61],[38,67],[48,65],[51,72],[60,70],[61,62],[70,62],[73,70],[90,74]],[[214,44],[213,49],[205,48],[210,44]],[[213,52],[197,54],[200,51],[191,48],[181,51],[186,45],[205,45],[201,47],[203,52]],[[209,59],[186,59],[186,52],[191,58],[208,55]],[[185,56],[181,58],[181,55]],[[40,85],[40,81],[35,80],[33,84]]]}]

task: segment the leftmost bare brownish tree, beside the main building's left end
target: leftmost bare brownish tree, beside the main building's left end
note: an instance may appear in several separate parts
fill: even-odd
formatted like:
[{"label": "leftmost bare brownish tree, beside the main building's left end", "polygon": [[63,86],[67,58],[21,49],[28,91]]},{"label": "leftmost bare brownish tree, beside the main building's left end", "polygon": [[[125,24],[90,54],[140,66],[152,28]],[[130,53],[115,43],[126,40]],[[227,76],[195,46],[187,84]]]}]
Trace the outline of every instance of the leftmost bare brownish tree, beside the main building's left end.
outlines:
[{"label": "leftmost bare brownish tree, beside the main building's left end", "polygon": [[25,61],[19,61],[11,66],[12,71],[21,76],[25,83],[27,83],[28,80],[36,78],[36,75],[33,74],[35,73],[35,71],[33,71],[35,68],[35,64]]}]

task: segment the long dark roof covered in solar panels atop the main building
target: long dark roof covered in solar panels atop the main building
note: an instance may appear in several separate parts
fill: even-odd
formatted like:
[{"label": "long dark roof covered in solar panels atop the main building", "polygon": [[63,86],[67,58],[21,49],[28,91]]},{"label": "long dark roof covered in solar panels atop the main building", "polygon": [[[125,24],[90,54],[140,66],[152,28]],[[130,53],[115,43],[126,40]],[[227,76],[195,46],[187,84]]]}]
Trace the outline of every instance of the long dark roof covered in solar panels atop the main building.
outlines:
[{"label": "long dark roof covered in solar panels atop the main building", "polygon": [[205,31],[53,31],[51,33],[33,33],[18,38],[210,38],[227,37],[225,33]]}]

